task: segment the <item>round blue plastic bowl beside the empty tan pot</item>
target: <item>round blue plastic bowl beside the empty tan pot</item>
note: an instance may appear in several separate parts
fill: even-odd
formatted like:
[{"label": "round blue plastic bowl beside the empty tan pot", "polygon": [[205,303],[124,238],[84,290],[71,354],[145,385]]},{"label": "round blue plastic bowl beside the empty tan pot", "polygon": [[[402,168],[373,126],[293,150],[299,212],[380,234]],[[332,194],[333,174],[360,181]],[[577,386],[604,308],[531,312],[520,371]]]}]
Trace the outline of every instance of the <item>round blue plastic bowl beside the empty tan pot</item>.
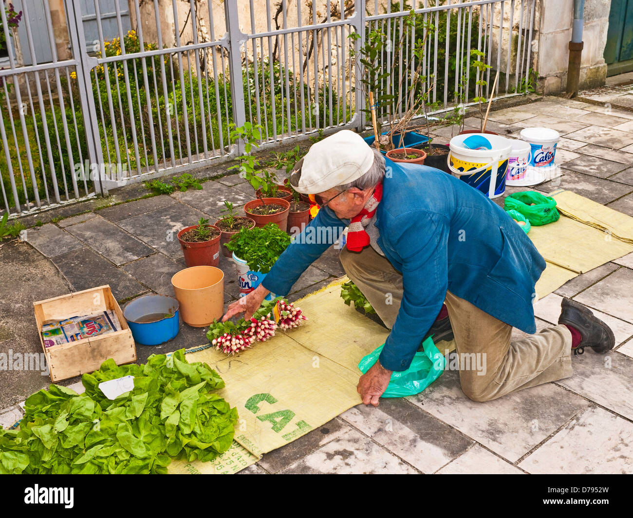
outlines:
[{"label": "round blue plastic bowl beside the empty tan pot", "polygon": [[[179,331],[179,304],[167,295],[145,295],[132,300],[123,310],[135,342],[159,345],[172,340]],[[172,315],[165,317],[165,315]]]}]

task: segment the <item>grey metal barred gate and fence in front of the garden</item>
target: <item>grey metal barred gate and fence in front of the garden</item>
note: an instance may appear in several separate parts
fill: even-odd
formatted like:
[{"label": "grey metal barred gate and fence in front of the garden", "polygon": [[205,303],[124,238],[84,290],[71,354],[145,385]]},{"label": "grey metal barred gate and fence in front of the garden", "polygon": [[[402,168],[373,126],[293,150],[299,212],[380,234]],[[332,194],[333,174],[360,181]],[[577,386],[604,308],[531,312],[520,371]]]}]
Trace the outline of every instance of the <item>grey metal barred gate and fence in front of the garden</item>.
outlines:
[{"label": "grey metal barred gate and fence in front of the garden", "polygon": [[[397,70],[397,80],[381,79],[385,92],[408,95],[413,45],[433,23],[415,69],[434,78],[432,113],[473,104],[473,85],[492,83],[495,70],[499,83],[486,84],[484,96],[518,95],[531,77],[536,0],[423,0],[413,14],[404,0],[51,0],[46,63],[28,22],[35,4],[23,2],[22,16],[8,5],[0,9],[9,59],[0,70],[0,213],[15,216],[230,159],[243,149],[231,125],[261,125],[261,147],[365,129],[358,57],[376,30],[391,42],[377,66]],[[72,57],[60,60],[62,19]],[[17,39],[31,65],[16,61]],[[482,76],[471,49],[491,67]],[[402,111],[387,103],[379,118]]]}]

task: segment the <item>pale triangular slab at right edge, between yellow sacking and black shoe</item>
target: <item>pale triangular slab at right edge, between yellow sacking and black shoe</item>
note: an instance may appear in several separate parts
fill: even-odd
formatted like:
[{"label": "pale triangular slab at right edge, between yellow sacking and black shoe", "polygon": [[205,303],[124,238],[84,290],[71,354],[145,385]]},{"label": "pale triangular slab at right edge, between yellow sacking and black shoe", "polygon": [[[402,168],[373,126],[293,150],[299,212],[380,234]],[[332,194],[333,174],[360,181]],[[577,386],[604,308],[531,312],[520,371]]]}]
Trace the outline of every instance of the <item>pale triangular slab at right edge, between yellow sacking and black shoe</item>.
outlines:
[{"label": "pale triangular slab at right edge, between yellow sacking and black shoe", "polygon": [[576,295],[573,300],[633,323],[633,270],[620,268]]}]

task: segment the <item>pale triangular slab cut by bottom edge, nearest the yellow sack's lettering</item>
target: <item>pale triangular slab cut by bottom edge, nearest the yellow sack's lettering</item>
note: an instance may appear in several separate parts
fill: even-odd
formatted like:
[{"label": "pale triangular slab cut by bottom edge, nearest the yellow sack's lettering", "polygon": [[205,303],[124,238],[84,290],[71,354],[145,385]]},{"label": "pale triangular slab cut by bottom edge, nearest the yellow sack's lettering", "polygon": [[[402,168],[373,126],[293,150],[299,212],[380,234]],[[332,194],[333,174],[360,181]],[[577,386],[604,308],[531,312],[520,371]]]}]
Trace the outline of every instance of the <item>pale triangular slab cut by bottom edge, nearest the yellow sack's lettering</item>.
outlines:
[{"label": "pale triangular slab cut by bottom edge, nearest the yellow sack's lettering", "polygon": [[284,474],[413,474],[392,453],[359,431],[350,430],[282,471]]}]

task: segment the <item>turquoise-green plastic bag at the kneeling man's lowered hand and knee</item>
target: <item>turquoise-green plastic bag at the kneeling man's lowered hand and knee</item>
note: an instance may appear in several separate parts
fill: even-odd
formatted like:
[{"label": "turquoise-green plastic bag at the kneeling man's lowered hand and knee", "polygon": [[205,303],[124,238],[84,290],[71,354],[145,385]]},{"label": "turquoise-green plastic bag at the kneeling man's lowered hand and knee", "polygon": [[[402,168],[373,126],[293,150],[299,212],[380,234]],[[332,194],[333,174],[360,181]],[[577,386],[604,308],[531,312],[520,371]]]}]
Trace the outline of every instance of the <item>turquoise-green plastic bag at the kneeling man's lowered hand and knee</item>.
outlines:
[{"label": "turquoise-green plastic bag at the kneeling man's lowered hand and knee", "polygon": [[[381,397],[404,397],[419,394],[439,378],[446,364],[444,355],[437,350],[430,336],[424,340],[422,345],[424,350],[415,353],[413,361],[406,371],[394,371],[391,374],[391,381]],[[383,343],[361,359],[358,364],[361,373],[365,374],[378,361],[384,346]]]}]

